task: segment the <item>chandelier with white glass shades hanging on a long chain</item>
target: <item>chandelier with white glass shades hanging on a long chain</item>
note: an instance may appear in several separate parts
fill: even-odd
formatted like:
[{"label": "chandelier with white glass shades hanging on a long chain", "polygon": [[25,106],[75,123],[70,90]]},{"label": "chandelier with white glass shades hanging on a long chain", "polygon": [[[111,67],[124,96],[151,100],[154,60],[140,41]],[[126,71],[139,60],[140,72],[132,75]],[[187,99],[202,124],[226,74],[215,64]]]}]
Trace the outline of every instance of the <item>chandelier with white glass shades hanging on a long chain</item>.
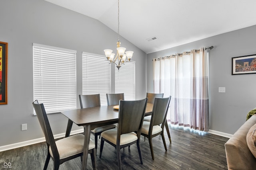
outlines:
[{"label": "chandelier with white glass shades hanging on a long chain", "polygon": [[[121,67],[122,64],[130,62],[132,59],[132,54],[133,51],[125,51],[126,48],[120,47],[121,43],[119,41],[119,0],[118,0],[118,42],[116,43],[116,56],[115,53],[112,53],[113,50],[111,49],[104,49],[106,58],[110,63],[116,64],[116,67],[119,68]],[[127,60],[126,60],[127,58]]]}]

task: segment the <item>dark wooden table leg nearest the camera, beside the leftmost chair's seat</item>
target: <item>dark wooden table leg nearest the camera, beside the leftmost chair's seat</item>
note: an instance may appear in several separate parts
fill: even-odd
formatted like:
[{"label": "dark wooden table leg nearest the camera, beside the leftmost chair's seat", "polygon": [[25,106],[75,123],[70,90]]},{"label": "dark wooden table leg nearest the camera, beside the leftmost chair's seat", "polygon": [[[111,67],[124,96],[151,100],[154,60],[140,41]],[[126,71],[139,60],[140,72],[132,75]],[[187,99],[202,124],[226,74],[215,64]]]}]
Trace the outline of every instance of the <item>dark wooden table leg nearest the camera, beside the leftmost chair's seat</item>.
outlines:
[{"label": "dark wooden table leg nearest the camera, beside the leftmost chair's seat", "polygon": [[83,162],[82,162],[82,170],[86,170],[87,158],[88,158],[88,150],[89,150],[89,143],[90,143],[90,134],[91,134],[91,127],[90,125],[84,126],[84,155],[83,155]]}]

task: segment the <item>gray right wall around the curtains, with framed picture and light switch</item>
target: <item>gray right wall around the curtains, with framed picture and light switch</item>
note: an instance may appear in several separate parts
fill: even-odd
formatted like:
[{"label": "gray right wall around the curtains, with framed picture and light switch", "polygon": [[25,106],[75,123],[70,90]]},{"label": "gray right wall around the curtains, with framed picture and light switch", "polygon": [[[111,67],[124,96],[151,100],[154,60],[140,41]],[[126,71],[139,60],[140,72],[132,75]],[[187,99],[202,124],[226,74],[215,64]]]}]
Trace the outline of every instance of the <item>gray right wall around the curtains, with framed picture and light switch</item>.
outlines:
[{"label": "gray right wall around the curtains, with framed picture and light switch", "polygon": [[[231,75],[231,58],[256,54],[256,25],[147,55],[147,88],[153,92],[152,59],[214,46],[209,56],[210,129],[234,134],[256,107],[256,74]],[[226,87],[226,93],[218,93]]]}]

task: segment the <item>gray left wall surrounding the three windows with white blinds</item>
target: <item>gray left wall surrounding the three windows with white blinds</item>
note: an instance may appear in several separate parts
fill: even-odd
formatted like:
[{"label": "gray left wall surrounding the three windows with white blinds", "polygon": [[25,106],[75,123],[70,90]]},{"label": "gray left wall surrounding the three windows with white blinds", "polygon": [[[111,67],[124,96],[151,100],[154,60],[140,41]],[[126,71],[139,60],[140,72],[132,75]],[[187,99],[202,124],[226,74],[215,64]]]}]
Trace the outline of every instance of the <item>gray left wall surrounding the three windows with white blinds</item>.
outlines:
[{"label": "gray left wall surrounding the three windows with white blinds", "polygon": [[[0,0],[0,41],[8,43],[8,104],[0,105],[0,146],[43,137],[33,115],[32,43],[77,50],[77,95],[82,94],[82,51],[104,55],[116,49],[117,33],[98,20],[44,0]],[[146,54],[124,38],[134,51],[136,99],[146,96]],[[77,107],[79,104],[77,102]],[[64,133],[68,119],[48,115],[54,135]],[[28,130],[21,131],[27,123]],[[76,125],[72,130],[81,129]]]}]

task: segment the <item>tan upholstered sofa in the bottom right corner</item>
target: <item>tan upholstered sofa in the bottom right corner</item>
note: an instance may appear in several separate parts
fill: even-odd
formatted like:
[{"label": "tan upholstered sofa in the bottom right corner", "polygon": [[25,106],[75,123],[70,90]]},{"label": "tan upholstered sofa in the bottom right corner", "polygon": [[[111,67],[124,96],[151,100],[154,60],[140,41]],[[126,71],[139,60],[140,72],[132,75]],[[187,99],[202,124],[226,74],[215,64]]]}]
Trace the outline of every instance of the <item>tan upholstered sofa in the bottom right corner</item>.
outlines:
[{"label": "tan upholstered sofa in the bottom right corner", "polygon": [[[255,131],[255,134],[254,134]],[[229,170],[256,170],[256,114],[225,143]]]}]

